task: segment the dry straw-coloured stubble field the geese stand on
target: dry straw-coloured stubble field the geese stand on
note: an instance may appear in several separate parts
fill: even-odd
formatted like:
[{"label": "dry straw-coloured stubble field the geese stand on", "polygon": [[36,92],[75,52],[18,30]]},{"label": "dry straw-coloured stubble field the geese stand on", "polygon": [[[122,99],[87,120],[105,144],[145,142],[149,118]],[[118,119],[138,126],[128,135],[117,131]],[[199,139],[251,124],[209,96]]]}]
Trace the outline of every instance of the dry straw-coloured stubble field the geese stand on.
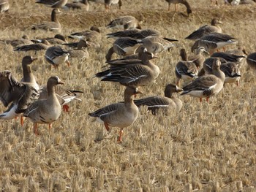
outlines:
[{"label": "dry straw-coloured stubble field the geese stand on", "polygon": [[[195,12],[187,18],[167,12],[165,1],[143,1],[148,4],[127,0],[122,10],[109,13],[98,5],[92,5],[90,12],[64,11],[60,19],[63,34],[93,24],[106,34],[110,31],[105,25],[111,19],[129,13],[144,20],[144,28],[156,28],[166,37],[179,39],[179,45],[188,50],[184,37],[219,16],[225,33],[237,37],[249,53],[256,50],[256,7],[211,7],[208,0],[200,0],[192,2]],[[31,38],[53,36],[29,29],[33,23],[49,20],[48,7],[25,0],[12,7],[0,15],[1,39],[20,38],[25,33]],[[180,9],[185,12],[184,7]],[[93,77],[104,65],[111,41],[103,36],[101,45],[101,49],[89,50],[88,60],[73,62],[69,69],[61,66],[49,71],[44,51],[37,53],[39,60],[32,68],[38,82],[44,84],[57,74],[67,88],[84,91],[83,101],[70,104],[71,111],[63,113],[50,132],[47,126],[40,126],[39,137],[32,133],[29,120],[24,127],[15,120],[1,120],[1,191],[189,191],[191,186],[194,191],[241,191],[241,186],[243,191],[256,191],[256,79],[246,65],[241,88],[227,85],[209,104],[184,96],[180,97],[184,102],[180,113],[156,117],[143,108],[135,124],[124,129],[124,142],[118,145],[116,128],[107,134],[87,115],[123,100],[124,87]],[[0,70],[10,69],[20,79],[21,59],[34,53],[14,53],[9,45],[0,47]],[[154,61],[162,73],[154,85],[141,88],[143,97],[163,94],[165,85],[175,80],[178,59],[178,49],[173,49]],[[100,138],[105,139],[94,142]]]}]

